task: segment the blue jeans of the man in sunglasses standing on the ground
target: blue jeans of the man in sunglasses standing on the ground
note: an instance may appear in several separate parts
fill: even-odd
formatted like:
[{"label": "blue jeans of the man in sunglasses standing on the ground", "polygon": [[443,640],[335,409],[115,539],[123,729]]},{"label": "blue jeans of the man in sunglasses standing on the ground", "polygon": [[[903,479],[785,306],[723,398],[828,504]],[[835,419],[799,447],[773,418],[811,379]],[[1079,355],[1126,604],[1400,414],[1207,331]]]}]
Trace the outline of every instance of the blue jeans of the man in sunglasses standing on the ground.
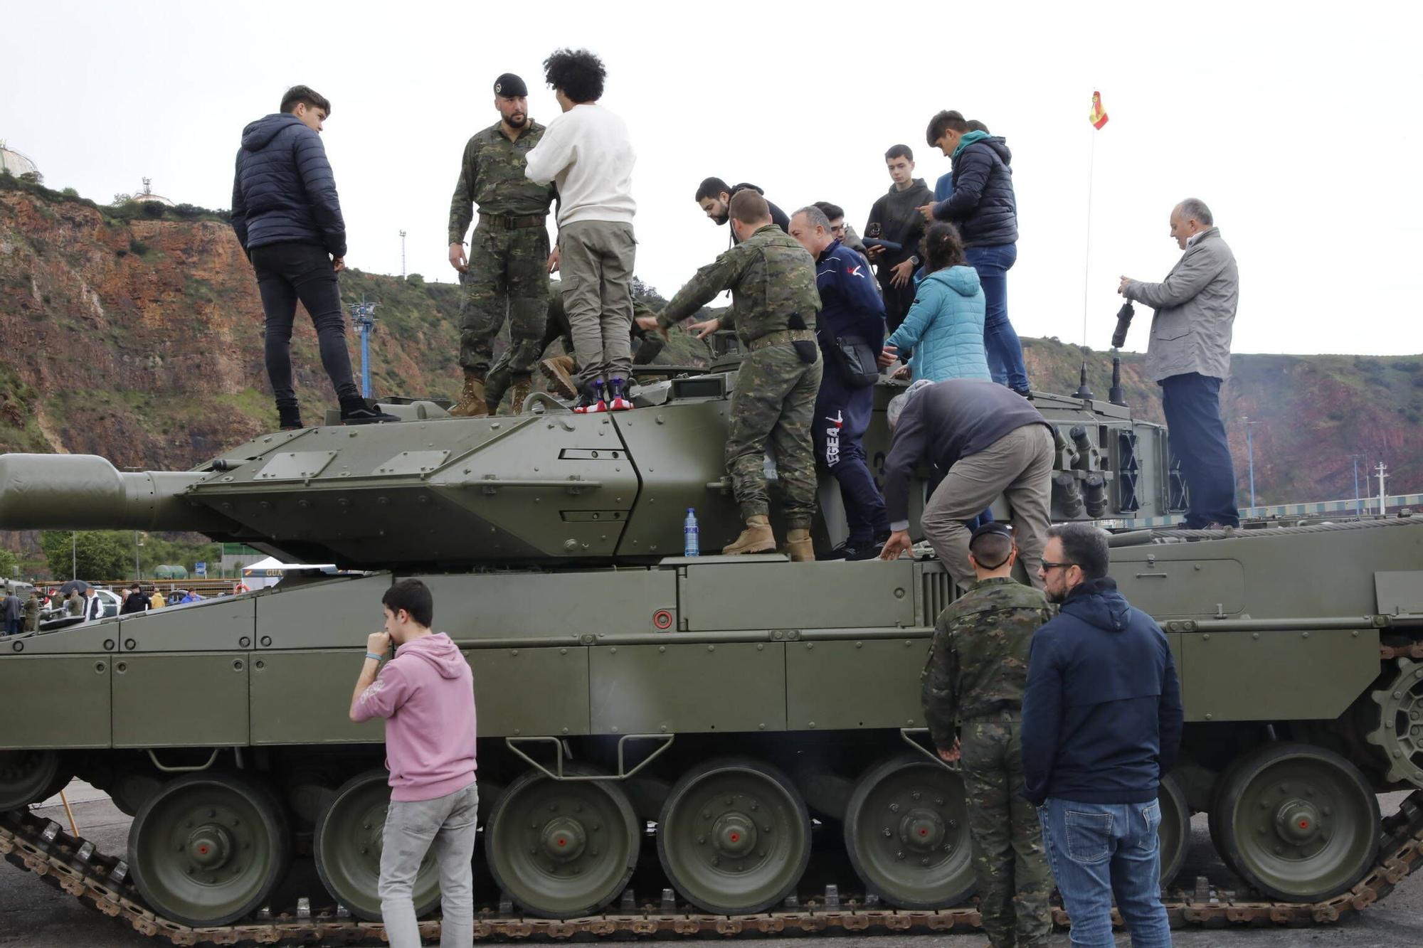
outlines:
[{"label": "blue jeans of the man in sunglasses standing on the ground", "polygon": [[1072,944],[1111,948],[1111,897],[1133,948],[1171,948],[1161,905],[1161,804],[1073,803],[1037,810],[1047,861],[1072,920]]}]

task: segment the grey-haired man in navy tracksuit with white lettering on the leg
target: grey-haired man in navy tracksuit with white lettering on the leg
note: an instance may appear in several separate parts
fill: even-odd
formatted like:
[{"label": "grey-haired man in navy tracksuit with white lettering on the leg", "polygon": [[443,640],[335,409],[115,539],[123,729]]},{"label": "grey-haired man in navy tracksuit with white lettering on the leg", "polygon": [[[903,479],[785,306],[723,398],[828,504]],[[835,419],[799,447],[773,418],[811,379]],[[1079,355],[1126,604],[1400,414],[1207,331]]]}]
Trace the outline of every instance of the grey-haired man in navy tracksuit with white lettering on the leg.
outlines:
[{"label": "grey-haired man in navy tracksuit with white lettering on the leg", "polygon": [[850,527],[845,542],[821,559],[872,559],[889,537],[885,501],[859,443],[874,409],[874,384],[855,387],[850,383],[835,340],[855,339],[878,353],[884,344],[885,305],[869,268],[835,239],[824,211],[814,205],[797,211],[791,215],[790,235],[815,258],[815,289],[820,290],[815,336],[825,359],[825,374],[811,426],[815,465],[840,481]]}]

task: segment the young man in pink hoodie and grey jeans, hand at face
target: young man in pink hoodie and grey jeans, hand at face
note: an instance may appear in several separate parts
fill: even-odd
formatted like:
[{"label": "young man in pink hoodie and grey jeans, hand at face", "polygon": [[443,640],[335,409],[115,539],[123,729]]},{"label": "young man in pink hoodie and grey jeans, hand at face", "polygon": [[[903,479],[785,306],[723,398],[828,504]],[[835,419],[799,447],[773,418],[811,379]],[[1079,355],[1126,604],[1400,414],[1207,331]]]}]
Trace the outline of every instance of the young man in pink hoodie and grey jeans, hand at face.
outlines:
[{"label": "young man in pink hoodie and grey jeans, hand at face", "polygon": [[[380,855],[380,914],[393,948],[420,945],[411,897],[434,848],[443,912],[440,945],[474,944],[474,678],[450,636],[430,631],[434,601],[418,579],[381,596],[386,631],[366,641],[351,720],[386,719],[390,809]],[[390,645],[396,658],[384,668]],[[377,675],[379,672],[379,675]]]}]

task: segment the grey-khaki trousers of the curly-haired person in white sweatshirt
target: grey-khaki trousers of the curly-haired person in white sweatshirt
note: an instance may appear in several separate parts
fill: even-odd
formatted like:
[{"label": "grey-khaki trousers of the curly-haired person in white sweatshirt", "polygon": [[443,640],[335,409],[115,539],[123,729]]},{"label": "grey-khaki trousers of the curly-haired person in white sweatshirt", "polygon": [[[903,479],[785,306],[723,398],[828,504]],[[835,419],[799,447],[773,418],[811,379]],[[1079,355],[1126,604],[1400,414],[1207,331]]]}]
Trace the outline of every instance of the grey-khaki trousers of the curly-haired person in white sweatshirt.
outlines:
[{"label": "grey-khaki trousers of the curly-haired person in white sweatshirt", "polygon": [[632,374],[632,268],[638,242],[630,223],[575,221],[558,233],[564,312],[583,386]]}]

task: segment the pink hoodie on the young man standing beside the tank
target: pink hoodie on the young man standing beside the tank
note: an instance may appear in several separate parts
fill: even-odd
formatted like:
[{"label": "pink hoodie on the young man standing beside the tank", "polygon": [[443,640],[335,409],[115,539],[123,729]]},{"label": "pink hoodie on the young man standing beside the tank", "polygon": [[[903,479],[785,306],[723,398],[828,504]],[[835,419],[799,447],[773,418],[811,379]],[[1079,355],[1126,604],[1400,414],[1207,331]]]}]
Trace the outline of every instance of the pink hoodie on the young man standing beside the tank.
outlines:
[{"label": "pink hoodie on the young man standing beside the tank", "polygon": [[434,800],[474,783],[474,675],[444,632],[406,642],[351,709],[386,719],[390,799]]}]

